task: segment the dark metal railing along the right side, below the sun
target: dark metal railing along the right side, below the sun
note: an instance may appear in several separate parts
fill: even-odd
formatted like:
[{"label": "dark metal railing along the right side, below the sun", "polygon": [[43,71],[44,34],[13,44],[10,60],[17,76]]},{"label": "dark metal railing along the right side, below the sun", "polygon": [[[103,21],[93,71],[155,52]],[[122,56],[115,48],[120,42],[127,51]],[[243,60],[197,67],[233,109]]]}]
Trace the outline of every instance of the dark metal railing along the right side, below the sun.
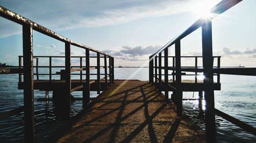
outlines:
[{"label": "dark metal railing along the right side, below the sun", "polygon": [[[219,14],[225,12],[229,8],[238,4],[242,0],[223,0],[217,4],[214,8],[210,10],[210,13],[214,14],[208,18],[200,18],[193,25],[187,28],[183,33],[175,37],[172,41],[168,42],[160,50],[150,56],[149,62],[149,81],[155,84],[160,91],[165,91],[166,100],[168,98],[168,91],[173,91],[172,100],[177,106],[177,116],[182,116],[182,92],[184,90],[184,83],[182,83],[181,76],[182,72],[195,72],[196,75],[199,72],[203,72],[205,76],[201,85],[195,85],[194,87],[200,86],[202,91],[204,91],[205,99],[205,123],[206,123],[206,142],[216,142],[216,128],[215,128],[215,114],[223,117],[224,119],[236,124],[237,126],[245,129],[256,135],[256,129],[242,121],[239,121],[233,117],[226,115],[225,113],[215,109],[214,102],[214,90],[216,90],[214,83],[214,74],[218,76],[218,82],[220,82],[220,74],[232,74],[232,75],[252,75],[256,76],[256,68],[221,68],[220,67],[220,57],[212,56],[212,30],[211,30],[211,20],[218,16]],[[181,67],[181,45],[180,41],[190,33],[196,31],[199,27],[202,27],[202,62],[203,67],[197,67],[197,62],[195,67],[184,68]],[[173,67],[168,67],[168,48],[175,45],[175,60],[173,58]],[[162,56],[164,52],[164,56]],[[164,58],[164,66],[162,66],[162,58]],[[214,67],[214,58],[218,59],[218,66]],[[195,59],[197,61],[197,58]],[[155,66],[154,66],[155,63]],[[164,69],[164,81],[162,80],[162,69]],[[168,71],[173,71],[173,83],[170,84]],[[155,77],[155,80],[154,80]],[[195,76],[195,79],[197,76]],[[197,80],[196,80],[197,81]],[[196,84],[196,83],[194,83]],[[194,89],[195,90],[195,89]],[[201,92],[199,92],[200,94]],[[202,93],[201,93],[202,94]],[[199,97],[202,98],[202,95]]]}]

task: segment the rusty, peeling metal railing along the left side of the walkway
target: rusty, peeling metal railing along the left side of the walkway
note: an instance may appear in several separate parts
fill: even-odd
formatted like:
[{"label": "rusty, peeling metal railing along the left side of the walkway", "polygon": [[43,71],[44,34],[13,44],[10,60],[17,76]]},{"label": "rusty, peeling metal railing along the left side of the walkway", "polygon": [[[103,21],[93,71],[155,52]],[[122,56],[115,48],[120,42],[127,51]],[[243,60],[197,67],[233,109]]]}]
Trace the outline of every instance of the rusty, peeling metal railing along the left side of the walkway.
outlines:
[{"label": "rusty, peeling metal railing along the left side of the walkway", "polygon": [[[70,102],[71,102],[71,92],[72,90],[82,89],[83,91],[83,102],[88,103],[90,102],[90,69],[92,68],[90,66],[90,59],[95,57],[90,57],[90,52],[95,52],[97,54],[97,66],[94,67],[97,69],[97,83],[100,83],[99,79],[99,69],[100,69],[100,58],[104,58],[104,79],[105,82],[108,81],[106,77],[107,73],[107,61],[106,58],[109,58],[109,70],[110,70],[110,83],[114,82],[114,58],[106,54],[104,52],[98,51],[96,49],[93,49],[89,46],[76,43],[66,37],[63,37],[48,28],[41,26],[23,16],[20,16],[2,6],[0,6],[0,16],[9,19],[13,22],[16,22],[18,24],[21,24],[23,26],[23,68],[19,71],[15,71],[16,73],[19,73],[19,81],[22,82],[22,73],[23,73],[23,89],[24,89],[24,113],[25,113],[25,142],[34,142],[34,86],[36,83],[36,80],[34,80],[34,73],[33,73],[33,61],[34,58],[36,58],[38,63],[38,58],[41,56],[33,56],[33,30],[47,35],[49,37],[52,37],[58,41],[65,43],[65,56],[62,58],[65,58],[65,72],[63,72],[63,82],[61,84],[62,92],[57,93],[57,95],[61,95],[61,104],[63,105],[61,110],[65,112],[65,117],[70,117]],[[82,58],[86,58],[86,66],[79,66],[79,67],[71,67],[71,45],[82,48],[85,50],[86,54],[84,57],[79,57],[80,60]],[[51,69],[54,68],[54,66],[51,65],[51,58],[53,56],[47,56],[50,59],[50,65],[49,65],[49,82],[53,82],[51,79],[52,73]],[[54,56],[56,58],[56,56]],[[22,59],[19,58],[19,66],[22,66]],[[36,75],[37,79],[39,78],[38,75],[42,75],[38,73],[38,68],[40,68],[38,65],[36,66]],[[82,71],[86,71],[86,80],[85,82],[82,82],[82,84],[79,87],[72,87],[72,81],[71,80],[71,73],[74,71],[80,71],[80,75]],[[100,84],[98,84],[100,85]],[[99,88],[100,86],[98,86]],[[73,89],[72,89],[73,88]],[[77,88],[77,89],[74,89]],[[64,90],[64,91],[63,91]],[[98,90],[99,92],[99,90]]]}]

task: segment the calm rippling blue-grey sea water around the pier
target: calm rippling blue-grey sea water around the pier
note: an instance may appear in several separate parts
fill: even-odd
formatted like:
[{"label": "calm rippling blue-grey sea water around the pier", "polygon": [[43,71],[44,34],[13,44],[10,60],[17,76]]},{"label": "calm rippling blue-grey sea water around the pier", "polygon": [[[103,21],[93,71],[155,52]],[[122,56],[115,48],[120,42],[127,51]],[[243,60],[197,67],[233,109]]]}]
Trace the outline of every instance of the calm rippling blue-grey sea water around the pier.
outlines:
[{"label": "calm rippling blue-grey sea water around the pier", "polygon": [[[59,69],[56,69],[59,71]],[[47,69],[40,69],[39,73],[47,73]],[[54,73],[55,71],[53,71]],[[96,71],[94,71],[96,72]],[[101,71],[103,73],[103,70]],[[39,76],[47,79],[47,76]],[[53,77],[59,79],[59,76]],[[79,78],[79,76],[73,76]],[[92,76],[91,78],[96,78]],[[194,77],[184,77],[191,79]],[[115,79],[139,79],[148,80],[147,68],[115,68]],[[222,91],[215,91],[215,106],[217,109],[228,113],[256,127],[256,77],[221,75]],[[0,112],[8,111],[23,106],[23,90],[17,89],[18,75],[0,75]],[[50,97],[51,97],[50,92]],[[172,94],[172,93],[170,93]],[[170,95],[169,94],[169,95]],[[72,93],[75,97],[81,97],[81,92]],[[95,97],[95,92],[91,97]],[[36,101],[37,98],[45,97],[45,92],[34,91],[35,98],[35,130],[36,138],[50,135],[53,125],[65,124],[56,117],[52,102]],[[183,98],[198,98],[198,93],[184,92]],[[184,100],[184,112],[191,117],[200,127],[205,128],[204,113],[200,112],[197,100]],[[82,109],[82,102],[72,102],[71,115],[75,116]],[[216,127],[218,142],[256,142],[256,136],[245,132],[243,129],[216,116]],[[23,142],[24,141],[24,113],[0,120],[1,142]]]}]

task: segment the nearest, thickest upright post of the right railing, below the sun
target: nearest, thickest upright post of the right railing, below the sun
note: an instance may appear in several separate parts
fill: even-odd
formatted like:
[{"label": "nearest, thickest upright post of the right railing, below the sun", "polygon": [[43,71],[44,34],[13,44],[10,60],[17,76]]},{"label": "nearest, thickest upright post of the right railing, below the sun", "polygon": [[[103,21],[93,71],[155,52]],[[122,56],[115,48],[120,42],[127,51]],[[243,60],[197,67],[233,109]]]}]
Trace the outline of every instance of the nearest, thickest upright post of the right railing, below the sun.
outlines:
[{"label": "nearest, thickest upright post of the right railing, below the sun", "polygon": [[211,21],[202,25],[206,142],[216,142]]}]

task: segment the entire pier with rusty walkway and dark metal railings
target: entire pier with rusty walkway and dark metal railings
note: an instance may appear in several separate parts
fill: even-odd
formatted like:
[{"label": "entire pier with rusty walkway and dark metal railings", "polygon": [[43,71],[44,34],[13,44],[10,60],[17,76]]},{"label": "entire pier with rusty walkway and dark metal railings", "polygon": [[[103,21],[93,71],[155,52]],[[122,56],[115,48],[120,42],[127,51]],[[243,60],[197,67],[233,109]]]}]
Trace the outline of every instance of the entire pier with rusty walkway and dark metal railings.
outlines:
[{"label": "entire pier with rusty walkway and dark metal railings", "polygon": [[[221,14],[239,2],[241,1],[223,0],[211,9],[211,13]],[[72,92],[82,91],[83,110],[76,120],[70,119],[62,131],[48,138],[50,141],[216,142],[216,115],[256,135],[253,126],[215,108],[214,92],[221,90],[221,74],[256,76],[256,68],[224,68],[221,67],[221,56],[212,55],[211,20],[217,15],[197,20],[150,55],[148,81],[117,80],[114,74],[114,56],[74,42],[2,6],[0,16],[23,27],[23,55],[18,56],[17,67],[4,69],[3,74],[17,74],[18,89],[24,91],[24,106],[0,115],[1,119],[5,119],[19,112],[25,113],[25,142],[35,142],[34,90],[45,91],[45,101],[50,100],[49,91],[53,92],[51,100],[60,109],[63,120],[70,119],[71,102],[75,100]],[[202,56],[181,56],[181,39],[200,27]],[[65,43],[65,56],[34,55],[33,31]],[[71,56],[71,45],[83,49],[84,56]],[[175,56],[168,55],[168,49],[172,45]],[[41,58],[49,59],[49,65],[40,65],[38,61]],[[65,65],[53,66],[53,58],[65,59]],[[181,58],[192,59],[195,64],[182,67]],[[72,66],[72,59],[79,59],[80,65]],[[92,59],[96,59],[96,65],[91,65]],[[199,66],[199,59],[202,66]],[[40,73],[40,68],[49,69],[49,73]],[[53,72],[54,68],[61,70]],[[104,69],[104,72],[100,69]],[[205,78],[199,80],[199,75],[204,75]],[[42,76],[47,79],[41,78]],[[92,76],[95,78],[91,78]],[[191,76],[193,80],[183,80],[183,76]],[[92,99],[91,91],[96,91],[98,96]],[[184,115],[183,92],[199,92],[199,103],[202,103],[204,96],[205,131],[191,124]]]}]

